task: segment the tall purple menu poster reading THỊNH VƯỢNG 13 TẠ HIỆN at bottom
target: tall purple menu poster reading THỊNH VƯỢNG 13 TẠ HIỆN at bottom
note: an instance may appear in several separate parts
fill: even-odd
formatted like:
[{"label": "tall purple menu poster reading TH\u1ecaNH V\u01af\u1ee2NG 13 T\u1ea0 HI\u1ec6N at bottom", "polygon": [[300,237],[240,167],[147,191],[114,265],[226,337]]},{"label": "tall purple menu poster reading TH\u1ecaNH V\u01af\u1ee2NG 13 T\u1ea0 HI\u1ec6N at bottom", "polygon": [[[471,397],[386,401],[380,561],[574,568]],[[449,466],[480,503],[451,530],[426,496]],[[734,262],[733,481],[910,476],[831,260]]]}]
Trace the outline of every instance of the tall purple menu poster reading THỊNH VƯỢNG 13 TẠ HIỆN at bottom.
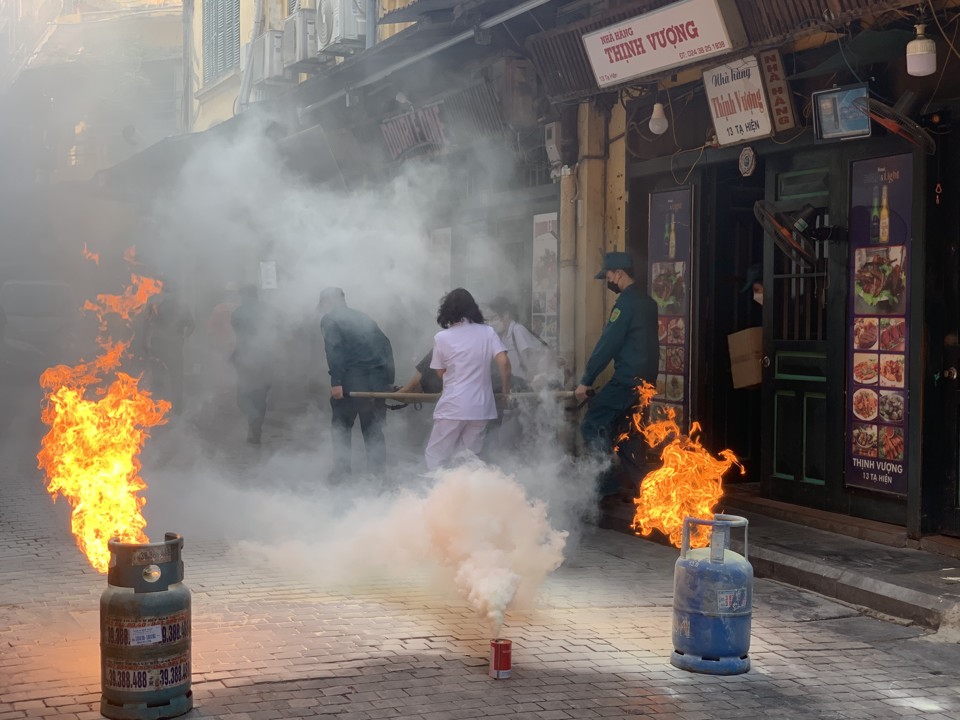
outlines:
[{"label": "tall purple menu poster reading TH\u1ecaNH V\u01af\u1ee2NG 13 T\u1ea0 HI\u1ec6N at bottom", "polygon": [[846,484],[897,495],[907,492],[912,206],[911,155],[853,164]]}]

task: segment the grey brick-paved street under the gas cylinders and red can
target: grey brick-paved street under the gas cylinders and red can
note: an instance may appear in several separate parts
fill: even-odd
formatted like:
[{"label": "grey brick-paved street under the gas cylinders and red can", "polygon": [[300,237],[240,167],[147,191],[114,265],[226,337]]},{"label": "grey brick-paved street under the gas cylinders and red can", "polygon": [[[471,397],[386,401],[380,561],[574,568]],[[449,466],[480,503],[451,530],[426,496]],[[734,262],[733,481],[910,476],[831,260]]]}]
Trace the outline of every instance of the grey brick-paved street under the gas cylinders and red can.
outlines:
[{"label": "grey brick-paved street under the gas cylinders and red can", "polygon": [[[37,427],[0,431],[0,720],[100,717],[106,580],[76,550],[68,506],[50,502],[33,468]],[[173,504],[159,482],[147,495]],[[222,511],[202,498],[200,507],[179,499],[185,518]],[[151,527],[164,529],[185,535],[193,591],[187,717],[960,718],[955,637],[765,580],[754,588],[749,673],[673,668],[676,550],[612,531],[574,535],[536,605],[507,615],[514,674],[498,681],[486,674],[489,627],[425,575],[345,586],[309,564],[287,572],[303,557],[287,546],[264,554],[192,523]],[[282,566],[263,562],[285,553]]]}]

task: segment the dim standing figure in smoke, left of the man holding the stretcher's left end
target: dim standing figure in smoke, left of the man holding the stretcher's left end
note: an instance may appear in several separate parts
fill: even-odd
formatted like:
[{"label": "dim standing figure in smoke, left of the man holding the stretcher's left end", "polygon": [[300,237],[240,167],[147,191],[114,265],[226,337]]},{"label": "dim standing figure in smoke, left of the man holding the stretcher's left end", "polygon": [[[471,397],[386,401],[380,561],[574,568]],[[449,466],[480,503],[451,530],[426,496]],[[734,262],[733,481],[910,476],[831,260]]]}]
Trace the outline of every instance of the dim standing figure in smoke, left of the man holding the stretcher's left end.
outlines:
[{"label": "dim standing figure in smoke, left of the man holding the stretcher's left end", "polygon": [[237,373],[237,405],[247,418],[247,442],[260,444],[270,392],[274,327],[256,285],[240,288],[240,303],[230,316],[235,345],[230,362]]}]

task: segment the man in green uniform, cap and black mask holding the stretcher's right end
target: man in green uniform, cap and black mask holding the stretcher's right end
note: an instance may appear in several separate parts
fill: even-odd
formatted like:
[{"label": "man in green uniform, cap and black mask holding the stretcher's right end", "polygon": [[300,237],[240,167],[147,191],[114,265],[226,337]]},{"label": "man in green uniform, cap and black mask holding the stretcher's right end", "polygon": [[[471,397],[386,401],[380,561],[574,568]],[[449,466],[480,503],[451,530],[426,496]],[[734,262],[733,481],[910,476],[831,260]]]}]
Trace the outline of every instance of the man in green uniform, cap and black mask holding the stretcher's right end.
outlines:
[{"label": "man in green uniform, cap and black mask holding the stretcher's right end", "polygon": [[[613,377],[590,401],[580,426],[587,452],[602,459],[608,457],[612,449],[614,424],[637,402],[637,386],[644,380],[650,384],[656,382],[659,340],[657,304],[634,283],[629,253],[607,253],[596,278],[605,279],[607,287],[620,297],[587,361],[576,396],[585,399],[597,376],[613,360]],[[618,491],[616,475],[610,470],[604,472],[600,478],[600,495],[614,495]]]}]

